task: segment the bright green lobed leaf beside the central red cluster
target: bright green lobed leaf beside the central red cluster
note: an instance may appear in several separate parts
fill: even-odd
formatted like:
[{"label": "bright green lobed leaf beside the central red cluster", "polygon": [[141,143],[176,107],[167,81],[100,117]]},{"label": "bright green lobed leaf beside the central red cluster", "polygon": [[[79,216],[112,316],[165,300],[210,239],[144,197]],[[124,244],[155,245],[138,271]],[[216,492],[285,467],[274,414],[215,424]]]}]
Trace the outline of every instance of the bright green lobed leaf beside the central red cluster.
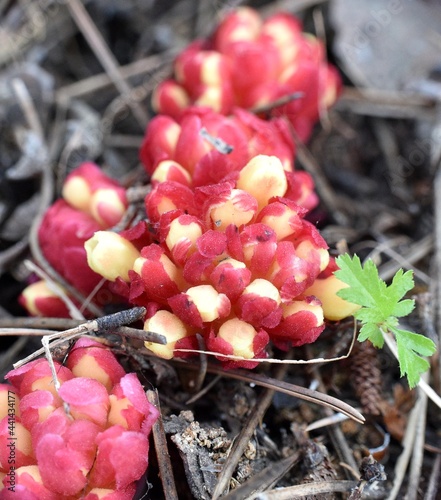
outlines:
[{"label": "bright green lobed leaf beside the central red cluster", "polygon": [[372,260],[361,264],[357,255],[352,258],[345,254],[336,259],[340,270],[334,274],[349,287],[337,295],[361,308],[354,317],[361,322],[358,340],[370,340],[375,347],[383,347],[383,333],[395,335],[401,376],[406,376],[410,387],[415,387],[420,374],[425,372],[429,363],[422,356],[431,356],[435,344],[414,332],[398,328],[398,318],[407,316],[415,307],[415,301],[403,299],[414,286],[412,271],[397,271],[389,286],[380,278]]}]

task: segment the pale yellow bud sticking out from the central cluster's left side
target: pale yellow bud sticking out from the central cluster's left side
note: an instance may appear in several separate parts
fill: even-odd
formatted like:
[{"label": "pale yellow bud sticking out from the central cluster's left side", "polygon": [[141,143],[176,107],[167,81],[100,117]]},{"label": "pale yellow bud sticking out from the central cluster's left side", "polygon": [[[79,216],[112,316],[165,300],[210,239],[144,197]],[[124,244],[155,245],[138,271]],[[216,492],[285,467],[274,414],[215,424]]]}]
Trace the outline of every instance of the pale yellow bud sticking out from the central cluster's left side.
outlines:
[{"label": "pale yellow bud sticking out from the central cluster's left side", "polygon": [[118,276],[129,281],[128,272],[140,256],[130,241],[111,231],[97,231],[85,242],[84,248],[90,268],[109,281],[115,281]]}]

